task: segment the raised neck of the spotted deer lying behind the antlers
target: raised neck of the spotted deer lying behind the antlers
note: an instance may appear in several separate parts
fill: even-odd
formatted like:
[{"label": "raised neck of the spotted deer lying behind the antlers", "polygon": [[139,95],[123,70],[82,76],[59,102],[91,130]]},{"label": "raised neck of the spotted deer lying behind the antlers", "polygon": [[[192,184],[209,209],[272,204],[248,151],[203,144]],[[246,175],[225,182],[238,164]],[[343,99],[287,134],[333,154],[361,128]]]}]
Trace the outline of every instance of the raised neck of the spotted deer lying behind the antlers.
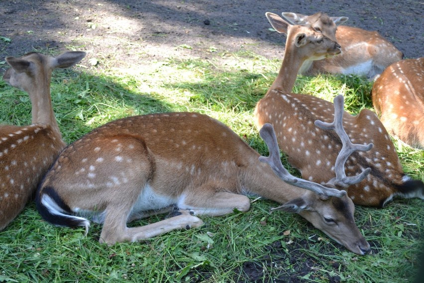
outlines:
[{"label": "raised neck of the spotted deer lying behind the antlers", "polygon": [[[289,40],[287,40],[287,42],[289,42]],[[304,59],[299,58],[299,54],[297,54],[296,49],[297,48],[291,48],[291,46],[286,45],[280,71],[278,72],[274,83],[271,85],[270,90],[278,89],[285,93],[292,92],[298,72],[305,61]]]}]

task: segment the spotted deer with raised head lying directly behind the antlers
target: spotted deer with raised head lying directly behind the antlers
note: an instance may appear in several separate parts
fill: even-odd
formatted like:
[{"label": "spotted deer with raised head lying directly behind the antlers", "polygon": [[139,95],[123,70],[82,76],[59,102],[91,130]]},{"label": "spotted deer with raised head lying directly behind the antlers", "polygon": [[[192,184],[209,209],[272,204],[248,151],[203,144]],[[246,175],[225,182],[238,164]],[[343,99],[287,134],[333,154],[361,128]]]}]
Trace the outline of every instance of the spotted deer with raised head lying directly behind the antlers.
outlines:
[{"label": "spotted deer with raised head lying directly behind the antlers", "polygon": [[[298,44],[297,31],[312,28],[290,25],[272,13],[267,13],[267,17],[274,29],[287,33],[287,42],[280,72],[265,97],[256,105],[255,124],[258,129],[265,123],[274,126],[281,149],[287,153],[289,162],[301,171],[304,179],[325,182],[334,177],[333,164],[341,143],[331,132],[314,127],[314,122],[317,119],[332,120],[334,106],[310,95],[290,93],[303,61],[320,47],[314,40],[305,45]],[[311,31],[311,36],[320,35],[316,33]],[[324,36],[325,39],[327,37]],[[338,186],[347,191],[355,204],[382,207],[397,195],[424,198],[423,182],[404,174],[396,149],[373,112],[364,109],[356,117],[345,112],[343,123],[352,141],[374,143],[370,151],[353,153],[346,161],[345,170],[350,175],[356,173],[358,165],[361,169],[371,167],[367,178],[350,186]]]}]

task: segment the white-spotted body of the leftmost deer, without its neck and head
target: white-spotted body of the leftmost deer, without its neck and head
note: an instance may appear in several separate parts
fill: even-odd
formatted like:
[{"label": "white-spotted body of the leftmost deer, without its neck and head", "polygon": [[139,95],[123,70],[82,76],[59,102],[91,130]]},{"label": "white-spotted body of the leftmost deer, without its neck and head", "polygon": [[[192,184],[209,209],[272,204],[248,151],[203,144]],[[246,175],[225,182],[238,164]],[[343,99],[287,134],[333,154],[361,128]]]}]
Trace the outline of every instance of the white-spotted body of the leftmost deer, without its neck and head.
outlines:
[{"label": "white-spotted body of the leftmost deer, without its neck and head", "polygon": [[24,208],[64,147],[55,134],[47,125],[0,127],[0,230]]}]

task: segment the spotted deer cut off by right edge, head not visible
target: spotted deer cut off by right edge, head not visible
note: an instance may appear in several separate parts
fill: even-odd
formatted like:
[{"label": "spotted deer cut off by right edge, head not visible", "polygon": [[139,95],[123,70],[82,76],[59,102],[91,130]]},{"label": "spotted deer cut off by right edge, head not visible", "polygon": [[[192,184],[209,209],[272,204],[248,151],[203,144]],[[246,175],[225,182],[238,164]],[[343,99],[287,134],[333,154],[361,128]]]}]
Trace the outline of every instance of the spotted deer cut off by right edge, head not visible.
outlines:
[{"label": "spotted deer cut off by right edge, head not visible", "polygon": [[424,149],[424,57],[390,65],[374,82],[371,93],[387,131]]}]

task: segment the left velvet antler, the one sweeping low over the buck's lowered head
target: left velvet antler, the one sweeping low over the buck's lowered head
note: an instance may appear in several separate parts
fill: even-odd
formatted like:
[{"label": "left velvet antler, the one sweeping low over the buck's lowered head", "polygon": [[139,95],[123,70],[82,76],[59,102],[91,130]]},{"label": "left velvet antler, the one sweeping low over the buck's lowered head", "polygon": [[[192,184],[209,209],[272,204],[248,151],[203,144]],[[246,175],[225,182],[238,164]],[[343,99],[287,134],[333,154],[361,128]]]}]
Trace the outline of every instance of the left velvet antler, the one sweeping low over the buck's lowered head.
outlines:
[{"label": "left velvet antler, the one sweeping low over the buck's lowered head", "polygon": [[322,199],[326,199],[330,196],[342,197],[346,194],[346,191],[327,188],[318,183],[297,178],[291,175],[281,163],[280,149],[278,147],[277,137],[275,136],[274,128],[272,127],[272,125],[263,125],[262,129],[259,131],[259,134],[261,135],[262,139],[265,141],[269,148],[269,156],[260,156],[259,161],[268,163],[274,173],[277,174],[277,176],[280,177],[280,179],[282,179],[284,182],[313,191],[319,194],[320,198]]}]

